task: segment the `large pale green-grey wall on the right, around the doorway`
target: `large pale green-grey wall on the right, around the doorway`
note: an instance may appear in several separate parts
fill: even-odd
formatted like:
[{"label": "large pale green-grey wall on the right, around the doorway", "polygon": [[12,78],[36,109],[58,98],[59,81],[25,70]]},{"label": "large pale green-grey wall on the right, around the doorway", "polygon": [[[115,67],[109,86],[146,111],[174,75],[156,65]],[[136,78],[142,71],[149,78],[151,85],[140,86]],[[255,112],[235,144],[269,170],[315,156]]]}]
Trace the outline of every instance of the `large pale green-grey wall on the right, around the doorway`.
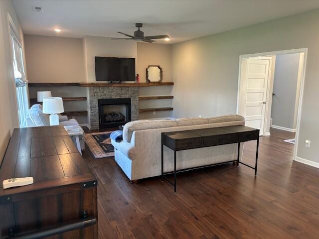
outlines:
[{"label": "large pale green-grey wall on the right, around the doorway", "polygon": [[[172,116],[236,113],[239,56],[308,48],[298,156],[319,162],[319,10],[172,46]],[[305,140],[311,147],[305,147]]]}]

